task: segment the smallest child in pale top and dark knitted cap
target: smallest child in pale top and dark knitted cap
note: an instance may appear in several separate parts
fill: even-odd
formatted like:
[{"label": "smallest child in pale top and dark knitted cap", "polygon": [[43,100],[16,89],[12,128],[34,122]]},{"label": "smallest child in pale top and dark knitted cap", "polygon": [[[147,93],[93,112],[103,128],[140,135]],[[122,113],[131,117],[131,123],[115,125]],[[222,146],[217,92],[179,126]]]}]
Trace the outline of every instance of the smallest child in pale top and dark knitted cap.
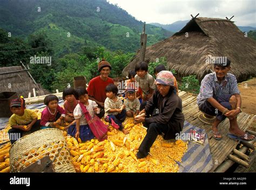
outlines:
[{"label": "smallest child in pale top and dark knitted cap", "polygon": [[136,98],[135,90],[127,89],[125,96],[126,96],[126,100],[125,100],[126,116],[134,117],[134,115],[138,115],[140,103],[139,103],[139,99]]}]

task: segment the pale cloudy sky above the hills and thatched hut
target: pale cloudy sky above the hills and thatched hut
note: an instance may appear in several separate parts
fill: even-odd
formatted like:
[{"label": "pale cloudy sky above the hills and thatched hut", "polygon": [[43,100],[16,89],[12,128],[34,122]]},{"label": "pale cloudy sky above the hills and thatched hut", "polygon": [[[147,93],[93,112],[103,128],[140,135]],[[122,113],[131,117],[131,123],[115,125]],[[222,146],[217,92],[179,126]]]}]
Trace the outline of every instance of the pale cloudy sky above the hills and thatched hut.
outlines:
[{"label": "pale cloudy sky above the hills and thatched hut", "polygon": [[118,4],[137,20],[172,24],[198,17],[231,18],[238,26],[256,27],[256,0],[107,0]]}]

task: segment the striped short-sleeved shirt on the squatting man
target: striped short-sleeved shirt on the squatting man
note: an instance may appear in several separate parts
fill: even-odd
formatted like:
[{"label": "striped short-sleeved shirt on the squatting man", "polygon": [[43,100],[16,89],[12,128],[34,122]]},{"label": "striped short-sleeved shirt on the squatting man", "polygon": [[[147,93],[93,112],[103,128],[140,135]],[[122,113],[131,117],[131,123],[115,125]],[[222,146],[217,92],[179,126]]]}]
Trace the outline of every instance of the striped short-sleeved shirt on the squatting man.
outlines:
[{"label": "striped short-sleeved shirt on the squatting man", "polygon": [[215,72],[207,74],[201,81],[200,92],[197,96],[198,107],[203,105],[210,97],[217,100],[218,96],[228,94],[240,94],[237,86],[237,79],[233,74],[227,73],[220,84],[218,83]]}]

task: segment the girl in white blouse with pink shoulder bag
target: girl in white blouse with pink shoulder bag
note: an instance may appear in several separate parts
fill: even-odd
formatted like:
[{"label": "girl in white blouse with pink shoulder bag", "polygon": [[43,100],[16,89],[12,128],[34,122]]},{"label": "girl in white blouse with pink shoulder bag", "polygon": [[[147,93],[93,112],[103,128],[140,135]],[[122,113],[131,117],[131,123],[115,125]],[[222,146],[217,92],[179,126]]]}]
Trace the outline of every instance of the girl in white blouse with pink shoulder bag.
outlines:
[{"label": "girl in white blouse with pink shoulder bag", "polygon": [[[91,140],[95,136],[99,140],[103,140],[107,132],[107,125],[104,126],[103,122],[95,115],[98,111],[97,103],[89,100],[87,90],[84,87],[76,88],[76,99],[79,100],[79,103],[73,112],[74,118],[76,119],[76,125],[70,126],[68,134],[75,138],[81,138],[82,141]],[[91,124],[96,124],[96,122],[98,123],[95,126],[98,129],[91,128]],[[100,128],[100,126],[103,126],[104,129]],[[93,133],[95,130],[96,133]],[[100,130],[103,130],[103,134],[99,135],[97,132]]]}]

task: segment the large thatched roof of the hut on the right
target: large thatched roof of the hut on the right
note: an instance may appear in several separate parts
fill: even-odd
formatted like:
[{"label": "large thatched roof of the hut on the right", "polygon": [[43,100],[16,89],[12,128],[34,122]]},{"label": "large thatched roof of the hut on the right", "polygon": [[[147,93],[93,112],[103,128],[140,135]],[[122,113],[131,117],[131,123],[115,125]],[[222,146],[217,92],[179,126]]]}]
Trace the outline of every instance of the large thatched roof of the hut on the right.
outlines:
[{"label": "large thatched roof of the hut on the right", "polygon": [[[188,37],[186,37],[186,32]],[[213,70],[206,64],[208,57],[227,57],[232,71],[239,81],[256,76],[256,41],[246,38],[230,20],[218,18],[191,19],[183,29],[172,37],[146,48],[145,61],[155,62],[166,57],[169,69],[178,76],[197,75],[199,80]],[[123,76],[139,62],[136,57],[123,70]]]}]

